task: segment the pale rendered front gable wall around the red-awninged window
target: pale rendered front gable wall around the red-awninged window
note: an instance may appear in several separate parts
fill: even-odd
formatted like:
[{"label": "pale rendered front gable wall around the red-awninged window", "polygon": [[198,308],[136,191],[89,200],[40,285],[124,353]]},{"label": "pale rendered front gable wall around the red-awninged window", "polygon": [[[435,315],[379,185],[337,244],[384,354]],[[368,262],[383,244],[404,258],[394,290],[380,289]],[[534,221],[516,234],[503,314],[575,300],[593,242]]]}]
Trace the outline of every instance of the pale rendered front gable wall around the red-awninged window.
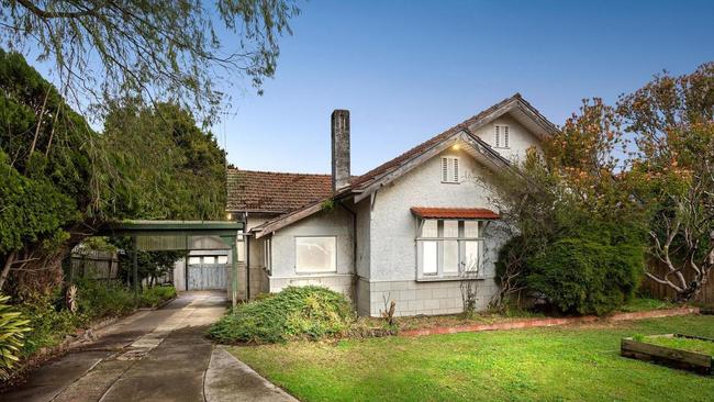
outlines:
[{"label": "pale rendered front gable wall around the red-awninged window", "polygon": [[[416,280],[416,231],[419,221],[412,206],[488,208],[494,210],[488,171],[467,152],[449,148],[381,188],[370,213],[369,277],[357,287],[360,313],[379,315],[384,300],[397,301],[398,315],[451,314],[462,311],[458,280]],[[460,182],[443,183],[440,157],[460,157]],[[481,234],[482,276],[478,279],[477,304],[484,309],[497,291],[494,282],[498,249],[507,235],[492,222]],[[367,305],[369,308],[367,308]]]}]

